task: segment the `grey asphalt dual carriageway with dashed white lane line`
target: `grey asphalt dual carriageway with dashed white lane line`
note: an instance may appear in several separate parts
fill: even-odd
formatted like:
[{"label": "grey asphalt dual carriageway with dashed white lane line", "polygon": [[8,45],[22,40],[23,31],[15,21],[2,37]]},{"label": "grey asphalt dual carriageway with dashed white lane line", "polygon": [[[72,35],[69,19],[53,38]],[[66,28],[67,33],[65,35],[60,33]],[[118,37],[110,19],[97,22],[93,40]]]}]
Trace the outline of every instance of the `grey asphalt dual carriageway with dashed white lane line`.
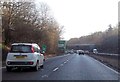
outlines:
[{"label": "grey asphalt dual carriageway with dashed white lane line", "polygon": [[3,80],[118,80],[119,75],[88,55],[68,54],[47,59],[44,68],[2,70]]}]

